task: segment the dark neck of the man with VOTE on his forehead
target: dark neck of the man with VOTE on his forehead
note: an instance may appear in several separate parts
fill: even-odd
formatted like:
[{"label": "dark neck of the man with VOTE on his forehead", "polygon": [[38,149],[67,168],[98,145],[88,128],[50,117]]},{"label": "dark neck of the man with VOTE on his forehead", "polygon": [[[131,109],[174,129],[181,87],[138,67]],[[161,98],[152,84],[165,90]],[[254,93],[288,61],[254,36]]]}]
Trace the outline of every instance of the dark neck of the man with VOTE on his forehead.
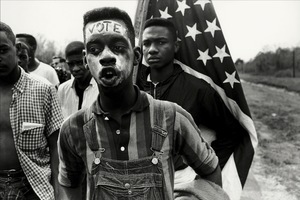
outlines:
[{"label": "dark neck of the man with VOTE on his forehead", "polygon": [[137,98],[132,83],[115,88],[100,86],[99,92],[101,108],[116,119],[128,112],[134,106]]}]

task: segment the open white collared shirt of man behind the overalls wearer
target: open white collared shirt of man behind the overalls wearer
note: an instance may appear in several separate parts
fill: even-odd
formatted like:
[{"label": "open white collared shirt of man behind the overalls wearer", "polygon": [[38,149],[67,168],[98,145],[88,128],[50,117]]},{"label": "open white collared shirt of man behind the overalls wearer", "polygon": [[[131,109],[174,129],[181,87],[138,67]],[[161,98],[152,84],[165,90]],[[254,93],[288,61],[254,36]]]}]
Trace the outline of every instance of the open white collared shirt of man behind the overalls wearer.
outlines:
[{"label": "open white collared shirt of man behind the overalls wearer", "polygon": [[[75,90],[75,79],[70,79],[58,87],[58,100],[61,105],[64,119],[78,111],[79,97]],[[93,104],[99,94],[98,86],[94,78],[84,90],[81,108],[87,108]]]}]

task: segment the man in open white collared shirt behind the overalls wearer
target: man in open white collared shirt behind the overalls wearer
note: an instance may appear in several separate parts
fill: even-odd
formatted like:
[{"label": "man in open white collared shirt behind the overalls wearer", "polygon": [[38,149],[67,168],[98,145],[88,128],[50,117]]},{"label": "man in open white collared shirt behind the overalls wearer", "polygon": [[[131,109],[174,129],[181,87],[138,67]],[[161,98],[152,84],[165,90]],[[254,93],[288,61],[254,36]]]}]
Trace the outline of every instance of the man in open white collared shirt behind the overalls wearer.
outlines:
[{"label": "man in open white collared shirt behind the overalls wearer", "polygon": [[92,105],[99,93],[96,81],[83,62],[83,49],[80,41],[69,43],[65,49],[66,63],[74,78],[61,84],[57,91],[64,119]]}]

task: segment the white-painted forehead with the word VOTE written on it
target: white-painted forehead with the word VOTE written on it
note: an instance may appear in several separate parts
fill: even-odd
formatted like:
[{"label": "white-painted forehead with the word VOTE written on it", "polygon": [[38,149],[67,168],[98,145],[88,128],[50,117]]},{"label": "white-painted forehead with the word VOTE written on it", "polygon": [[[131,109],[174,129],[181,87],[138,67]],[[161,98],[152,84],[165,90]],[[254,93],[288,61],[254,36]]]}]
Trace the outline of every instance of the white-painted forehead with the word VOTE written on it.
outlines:
[{"label": "white-painted forehead with the word VOTE written on it", "polygon": [[89,22],[85,26],[85,37],[89,38],[94,34],[119,34],[128,37],[128,30],[124,23],[115,20],[100,20]]}]

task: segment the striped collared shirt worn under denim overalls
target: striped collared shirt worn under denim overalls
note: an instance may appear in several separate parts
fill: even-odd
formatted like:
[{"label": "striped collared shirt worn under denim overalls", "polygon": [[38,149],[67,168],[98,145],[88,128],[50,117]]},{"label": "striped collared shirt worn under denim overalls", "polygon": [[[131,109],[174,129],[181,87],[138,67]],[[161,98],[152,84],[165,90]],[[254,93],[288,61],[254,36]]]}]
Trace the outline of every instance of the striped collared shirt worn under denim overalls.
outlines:
[{"label": "striped collared shirt worn under denim overalls", "polygon": [[[95,117],[95,129],[98,133],[95,140],[98,140],[99,146],[105,149],[103,157],[134,160],[152,155],[151,116],[153,106],[157,106],[158,100],[145,92],[140,92],[137,88],[136,91],[137,101],[132,109],[121,117],[120,124],[101,109],[99,99],[91,108],[77,112],[63,123],[58,142],[60,184],[77,187],[81,183],[83,171],[87,171],[89,184],[87,195],[92,196],[94,182],[90,172],[95,155],[87,146],[86,137],[91,137],[91,134],[84,133],[83,127],[90,123],[91,119],[89,117],[85,119],[85,115]],[[171,104],[173,103],[166,102],[164,111],[170,109]],[[164,192],[168,194],[169,199],[173,197],[175,154],[183,155],[199,175],[212,173],[218,165],[218,158],[213,149],[201,138],[200,130],[191,115],[175,104],[174,107],[174,116],[167,116],[170,112],[163,112],[164,116],[161,116],[162,128],[168,132],[162,147],[164,152],[162,163]]]}]

